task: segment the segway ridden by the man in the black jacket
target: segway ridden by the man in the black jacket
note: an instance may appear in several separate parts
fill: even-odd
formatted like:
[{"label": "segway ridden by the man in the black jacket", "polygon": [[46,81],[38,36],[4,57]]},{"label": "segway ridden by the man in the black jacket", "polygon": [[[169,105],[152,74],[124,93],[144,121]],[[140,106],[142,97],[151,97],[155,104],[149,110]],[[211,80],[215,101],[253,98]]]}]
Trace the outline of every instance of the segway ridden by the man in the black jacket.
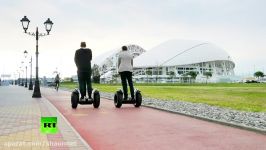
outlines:
[{"label": "segway ridden by the man in the black jacket", "polygon": [[84,98],[84,100],[80,100],[80,92],[78,89],[75,89],[71,94],[71,104],[72,108],[76,109],[78,104],[81,105],[91,105],[93,104],[94,108],[98,108],[100,106],[100,92],[98,90],[93,89],[92,91],[92,99]]}]

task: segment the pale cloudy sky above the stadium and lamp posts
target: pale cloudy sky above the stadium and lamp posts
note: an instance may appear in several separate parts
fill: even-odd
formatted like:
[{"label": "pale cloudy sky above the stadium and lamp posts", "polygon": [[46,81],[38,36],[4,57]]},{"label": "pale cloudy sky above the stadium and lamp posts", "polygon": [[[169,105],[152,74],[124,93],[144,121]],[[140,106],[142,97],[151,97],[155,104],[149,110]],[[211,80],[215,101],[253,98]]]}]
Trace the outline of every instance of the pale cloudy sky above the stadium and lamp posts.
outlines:
[{"label": "pale cloudy sky above the stadium and lamp posts", "polygon": [[[126,44],[150,50],[171,39],[213,43],[236,64],[236,75],[266,72],[265,0],[0,0],[0,74],[17,77],[33,57],[33,36],[23,33],[20,20],[29,18],[29,32],[39,39],[39,76],[76,74],[74,54],[80,42],[93,57]],[[27,50],[29,55],[24,57]],[[29,74],[29,73],[28,73]]]}]

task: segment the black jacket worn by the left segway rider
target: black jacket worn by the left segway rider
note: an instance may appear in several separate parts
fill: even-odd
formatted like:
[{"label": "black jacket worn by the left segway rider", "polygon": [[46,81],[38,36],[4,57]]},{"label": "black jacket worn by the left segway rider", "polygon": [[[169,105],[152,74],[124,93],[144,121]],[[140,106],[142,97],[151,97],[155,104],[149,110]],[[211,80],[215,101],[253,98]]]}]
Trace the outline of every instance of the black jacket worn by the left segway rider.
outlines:
[{"label": "black jacket worn by the left segway rider", "polygon": [[88,48],[80,48],[75,53],[75,63],[78,72],[91,72],[92,53]]}]

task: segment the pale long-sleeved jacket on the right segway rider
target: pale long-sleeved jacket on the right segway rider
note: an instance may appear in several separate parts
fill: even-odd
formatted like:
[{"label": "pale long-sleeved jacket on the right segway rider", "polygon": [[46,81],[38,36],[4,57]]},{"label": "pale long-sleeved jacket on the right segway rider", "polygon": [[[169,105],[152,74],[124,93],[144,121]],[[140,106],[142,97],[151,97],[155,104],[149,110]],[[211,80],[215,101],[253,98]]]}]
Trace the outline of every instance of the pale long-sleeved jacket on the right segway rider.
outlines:
[{"label": "pale long-sleeved jacket on the right segway rider", "polygon": [[128,51],[120,52],[118,56],[118,65],[118,72],[133,72],[133,56]]}]

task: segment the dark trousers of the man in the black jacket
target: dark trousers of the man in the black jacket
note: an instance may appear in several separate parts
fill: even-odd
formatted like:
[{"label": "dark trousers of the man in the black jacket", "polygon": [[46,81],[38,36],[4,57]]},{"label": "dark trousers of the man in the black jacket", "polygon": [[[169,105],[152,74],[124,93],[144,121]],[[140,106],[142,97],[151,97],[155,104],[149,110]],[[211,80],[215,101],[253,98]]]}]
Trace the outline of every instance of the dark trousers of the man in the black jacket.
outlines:
[{"label": "dark trousers of the man in the black jacket", "polygon": [[78,81],[81,98],[84,98],[86,96],[86,87],[88,90],[88,96],[89,98],[91,98],[91,72],[78,72]]}]

